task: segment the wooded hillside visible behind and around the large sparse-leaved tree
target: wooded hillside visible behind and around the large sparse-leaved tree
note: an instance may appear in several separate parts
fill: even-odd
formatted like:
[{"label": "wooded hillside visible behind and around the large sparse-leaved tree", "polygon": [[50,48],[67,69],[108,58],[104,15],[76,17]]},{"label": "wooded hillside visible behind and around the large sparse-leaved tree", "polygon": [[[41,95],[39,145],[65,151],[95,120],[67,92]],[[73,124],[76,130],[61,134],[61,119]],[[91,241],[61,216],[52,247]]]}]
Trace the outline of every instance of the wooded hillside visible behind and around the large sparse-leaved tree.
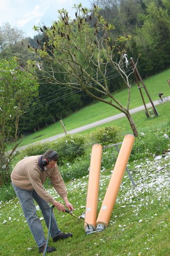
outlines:
[{"label": "wooded hillside visible behind and around the large sparse-leaved tree", "polygon": [[[93,5],[101,8],[101,16],[108,24],[114,24],[112,40],[130,37],[128,58],[137,61],[137,68],[143,78],[170,67],[170,2],[168,0],[95,0]],[[95,26],[93,12],[89,15],[91,26]],[[58,21],[57,21],[58,22]],[[88,22],[88,20],[87,20]],[[38,48],[45,42],[43,32],[34,38],[24,37],[22,30],[3,24],[0,27],[0,61],[10,61],[16,57],[21,67],[33,59],[29,47]],[[64,79],[64,77],[58,77]],[[113,73],[107,75],[111,92],[122,90],[121,77]],[[39,81],[38,81],[39,82]],[[134,76],[131,77],[131,84]],[[39,93],[33,97],[20,119],[22,134],[29,134],[92,103],[85,92],[72,88],[39,83]]]}]

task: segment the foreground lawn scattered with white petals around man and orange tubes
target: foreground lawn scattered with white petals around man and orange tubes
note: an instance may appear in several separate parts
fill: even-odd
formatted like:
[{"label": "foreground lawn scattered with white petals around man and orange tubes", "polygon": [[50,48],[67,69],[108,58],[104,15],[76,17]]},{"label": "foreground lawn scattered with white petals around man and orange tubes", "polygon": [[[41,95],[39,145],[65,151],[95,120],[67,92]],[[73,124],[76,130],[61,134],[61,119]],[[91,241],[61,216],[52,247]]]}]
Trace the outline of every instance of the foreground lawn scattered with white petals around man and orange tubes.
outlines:
[{"label": "foreground lawn scattered with white petals around man and orange tubes", "polygon": [[[161,158],[161,157],[160,157]],[[104,231],[85,235],[84,225],[67,213],[54,209],[59,228],[73,237],[49,245],[56,247],[50,255],[62,256],[169,256],[170,255],[170,152],[164,158],[144,158],[128,168],[137,184],[131,185],[125,173],[111,219]],[[98,211],[111,173],[101,166]],[[85,211],[88,175],[66,184],[76,216]],[[56,195],[49,189],[51,195]],[[58,198],[58,196],[56,195]],[[59,199],[56,199],[59,200]],[[40,210],[38,216],[42,217]],[[47,228],[42,219],[47,235]],[[1,256],[38,256],[18,199],[0,202]]]}]

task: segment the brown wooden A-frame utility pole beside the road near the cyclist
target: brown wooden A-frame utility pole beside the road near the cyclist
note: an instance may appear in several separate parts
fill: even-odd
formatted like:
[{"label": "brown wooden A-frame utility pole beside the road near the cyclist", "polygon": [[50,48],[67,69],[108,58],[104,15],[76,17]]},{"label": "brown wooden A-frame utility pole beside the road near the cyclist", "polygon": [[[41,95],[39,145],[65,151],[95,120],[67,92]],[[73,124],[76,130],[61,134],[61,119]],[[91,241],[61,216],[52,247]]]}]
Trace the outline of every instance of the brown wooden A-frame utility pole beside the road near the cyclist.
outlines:
[{"label": "brown wooden A-frame utility pole beside the road near the cyclist", "polygon": [[[146,110],[147,118],[149,117],[149,113],[148,113],[148,111],[147,111],[147,106],[146,106],[146,104],[145,104],[144,96],[143,96],[143,94],[142,94],[141,88],[144,88],[144,90],[145,90],[145,92],[146,92],[146,94],[147,94],[147,97],[149,98],[150,103],[151,103],[151,105],[152,105],[152,107],[153,107],[154,114],[158,116],[159,114],[158,114],[158,112],[157,112],[157,109],[155,108],[154,102],[152,101],[152,99],[151,99],[151,97],[150,97],[150,94],[149,94],[149,92],[147,91],[147,88],[146,88],[146,86],[145,86],[145,84],[144,84],[144,81],[142,80],[141,75],[139,74],[139,71],[137,70],[137,67],[136,67],[136,65],[134,64],[134,61],[133,61],[133,58],[132,58],[132,57],[131,57],[131,64],[132,64],[132,67],[133,67],[133,69],[134,69],[134,76],[135,76],[135,79],[136,79],[136,82],[137,82],[137,86],[138,86],[139,91],[140,91],[140,94],[141,94],[142,101],[143,101],[143,103],[144,103],[144,107],[145,107],[145,110]],[[140,86],[139,80],[141,81],[142,86]]]}]

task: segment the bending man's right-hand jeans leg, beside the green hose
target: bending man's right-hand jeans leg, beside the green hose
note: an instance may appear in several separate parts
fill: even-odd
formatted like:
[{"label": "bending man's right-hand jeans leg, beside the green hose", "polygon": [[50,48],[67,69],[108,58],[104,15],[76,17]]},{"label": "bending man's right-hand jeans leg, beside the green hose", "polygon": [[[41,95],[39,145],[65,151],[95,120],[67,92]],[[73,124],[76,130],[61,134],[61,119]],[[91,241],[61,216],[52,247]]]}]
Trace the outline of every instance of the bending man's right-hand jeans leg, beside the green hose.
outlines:
[{"label": "bending man's right-hand jeans leg, beside the green hose", "polygon": [[[46,222],[47,228],[49,228],[49,218],[50,218],[50,206],[49,203],[46,202],[44,199],[42,199],[35,190],[33,190],[33,199],[37,202],[39,205],[39,208],[42,211],[42,215],[44,216],[44,220]],[[52,218],[51,218],[51,236],[56,237],[61,233],[61,230],[59,230],[56,222],[56,218],[54,216],[54,213],[52,212]]]}]

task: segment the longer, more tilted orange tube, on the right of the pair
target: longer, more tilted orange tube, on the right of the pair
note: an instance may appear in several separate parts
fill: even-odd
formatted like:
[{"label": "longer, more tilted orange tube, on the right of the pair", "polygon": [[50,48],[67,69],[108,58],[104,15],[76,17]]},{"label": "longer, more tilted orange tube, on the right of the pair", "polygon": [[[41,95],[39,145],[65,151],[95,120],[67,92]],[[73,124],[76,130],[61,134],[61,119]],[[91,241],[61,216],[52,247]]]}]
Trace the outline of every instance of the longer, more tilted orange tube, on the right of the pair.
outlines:
[{"label": "longer, more tilted orange tube, on the right of the pair", "polygon": [[100,226],[100,224],[101,227],[103,226],[104,228],[108,226],[108,222],[111,217],[111,212],[113,210],[114,203],[118,195],[118,191],[121,185],[121,181],[123,179],[123,175],[127,166],[129,156],[131,154],[133,144],[134,135],[125,135],[123,143],[121,145],[120,152],[118,154],[117,161],[114,166],[113,173],[111,175],[108,189],[105,193],[105,198],[103,200],[100,212],[98,214],[98,219],[96,221],[96,230],[98,229],[98,226]]}]

